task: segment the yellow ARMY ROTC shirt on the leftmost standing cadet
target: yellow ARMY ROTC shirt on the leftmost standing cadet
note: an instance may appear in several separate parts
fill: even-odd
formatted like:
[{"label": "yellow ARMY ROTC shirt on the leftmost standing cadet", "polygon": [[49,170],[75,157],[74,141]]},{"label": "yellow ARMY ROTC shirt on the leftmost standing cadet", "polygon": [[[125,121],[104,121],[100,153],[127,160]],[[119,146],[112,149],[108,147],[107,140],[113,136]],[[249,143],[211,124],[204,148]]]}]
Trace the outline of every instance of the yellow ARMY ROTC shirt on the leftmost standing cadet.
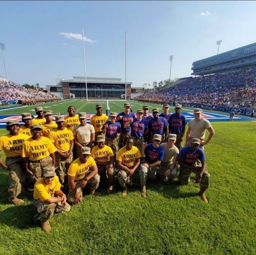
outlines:
[{"label": "yellow ARMY ROTC shirt on the leftmost standing cadet", "polygon": [[27,134],[18,134],[17,136],[6,134],[5,136],[0,137],[0,151],[3,149],[7,157],[20,156],[23,143],[27,139],[29,139]]}]

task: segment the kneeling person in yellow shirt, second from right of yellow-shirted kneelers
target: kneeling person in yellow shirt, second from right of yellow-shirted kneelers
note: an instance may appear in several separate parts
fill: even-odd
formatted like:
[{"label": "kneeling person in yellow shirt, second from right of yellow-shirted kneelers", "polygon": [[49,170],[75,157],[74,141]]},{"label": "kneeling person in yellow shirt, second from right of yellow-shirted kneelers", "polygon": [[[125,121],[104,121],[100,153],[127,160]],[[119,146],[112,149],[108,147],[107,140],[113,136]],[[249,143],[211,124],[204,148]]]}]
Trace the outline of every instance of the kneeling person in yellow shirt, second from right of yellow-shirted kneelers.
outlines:
[{"label": "kneeling person in yellow shirt, second from right of yellow-shirted kneelers", "polygon": [[92,148],[92,158],[96,161],[100,180],[102,181],[106,177],[108,178],[107,192],[110,193],[113,189],[113,178],[114,178],[114,153],[111,147],[105,145],[104,134],[99,134],[97,137],[97,146]]}]

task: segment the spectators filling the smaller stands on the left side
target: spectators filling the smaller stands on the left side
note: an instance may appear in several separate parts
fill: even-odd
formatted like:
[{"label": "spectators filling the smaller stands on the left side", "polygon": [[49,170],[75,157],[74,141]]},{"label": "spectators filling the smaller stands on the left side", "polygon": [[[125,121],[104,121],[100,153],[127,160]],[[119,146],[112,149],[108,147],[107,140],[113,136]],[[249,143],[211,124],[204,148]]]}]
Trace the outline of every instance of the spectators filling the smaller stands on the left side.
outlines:
[{"label": "spectators filling the smaller stands on the left side", "polygon": [[60,98],[51,93],[45,93],[40,89],[24,88],[10,81],[0,81],[1,104],[8,105],[10,100],[22,101],[22,105],[59,101]]}]

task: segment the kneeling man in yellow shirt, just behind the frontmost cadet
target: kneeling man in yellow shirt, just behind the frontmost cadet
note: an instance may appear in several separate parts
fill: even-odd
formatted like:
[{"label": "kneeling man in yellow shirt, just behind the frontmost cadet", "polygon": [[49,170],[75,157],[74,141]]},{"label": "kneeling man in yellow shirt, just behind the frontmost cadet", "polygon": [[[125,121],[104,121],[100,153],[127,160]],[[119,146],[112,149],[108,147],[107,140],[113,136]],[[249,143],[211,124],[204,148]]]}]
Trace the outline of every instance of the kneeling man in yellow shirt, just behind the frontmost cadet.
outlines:
[{"label": "kneeling man in yellow shirt, just behind the frontmost cadet", "polygon": [[69,180],[67,201],[72,204],[78,204],[82,201],[82,189],[84,189],[87,184],[91,185],[90,193],[92,195],[101,195],[99,192],[95,191],[99,187],[100,176],[98,175],[98,167],[94,159],[90,156],[91,148],[82,147],[80,153],[80,157],[71,163],[67,171]]}]

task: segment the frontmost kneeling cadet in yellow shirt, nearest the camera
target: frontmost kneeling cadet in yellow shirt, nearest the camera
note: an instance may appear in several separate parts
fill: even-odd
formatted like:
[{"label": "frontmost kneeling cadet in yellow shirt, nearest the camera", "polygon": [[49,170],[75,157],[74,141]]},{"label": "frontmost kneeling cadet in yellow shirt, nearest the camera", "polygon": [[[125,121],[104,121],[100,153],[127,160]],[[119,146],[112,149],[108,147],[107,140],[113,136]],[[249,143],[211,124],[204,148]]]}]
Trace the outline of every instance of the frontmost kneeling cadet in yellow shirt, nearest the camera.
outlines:
[{"label": "frontmost kneeling cadet in yellow shirt, nearest the camera", "polygon": [[44,167],[43,178],[35,183],[33,205],[40,213],[41,227],[44,232],[50,232],[49,219],[54,212],[69,212],[70,205],[66,195],[61,191],[61,183],[55,173],[55,167]]}]

